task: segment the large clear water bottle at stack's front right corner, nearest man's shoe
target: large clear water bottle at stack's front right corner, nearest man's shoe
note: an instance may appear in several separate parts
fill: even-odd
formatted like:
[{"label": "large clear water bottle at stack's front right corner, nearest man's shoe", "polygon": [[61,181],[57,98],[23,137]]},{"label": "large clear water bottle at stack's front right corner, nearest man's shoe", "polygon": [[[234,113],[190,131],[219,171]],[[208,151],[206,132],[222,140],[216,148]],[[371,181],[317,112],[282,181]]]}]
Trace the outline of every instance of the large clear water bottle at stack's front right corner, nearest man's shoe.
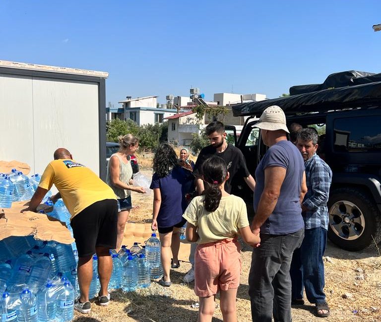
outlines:
[{"label": "large clear water bottle at stack's front right corner, nearest man's shoe", "polygon": [[57,320],[60,322],[70,322],[74,316],[74,290],[70,282],[66,279],[58,291],[57,296]]}]

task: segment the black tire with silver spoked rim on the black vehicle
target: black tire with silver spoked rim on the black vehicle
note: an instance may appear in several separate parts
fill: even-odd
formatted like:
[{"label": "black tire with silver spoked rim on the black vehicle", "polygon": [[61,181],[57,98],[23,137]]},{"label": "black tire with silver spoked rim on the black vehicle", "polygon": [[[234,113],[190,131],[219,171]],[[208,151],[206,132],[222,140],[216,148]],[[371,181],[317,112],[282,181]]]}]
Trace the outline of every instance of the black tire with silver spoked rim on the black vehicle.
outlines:
[{"label": "black tire with silver spoked rim on the black vehicle", "polygon": [[359,251],[380,242],[381,216],[369,195],[356,188],[335,189],[327,206],[328,238],[338,247]]}]

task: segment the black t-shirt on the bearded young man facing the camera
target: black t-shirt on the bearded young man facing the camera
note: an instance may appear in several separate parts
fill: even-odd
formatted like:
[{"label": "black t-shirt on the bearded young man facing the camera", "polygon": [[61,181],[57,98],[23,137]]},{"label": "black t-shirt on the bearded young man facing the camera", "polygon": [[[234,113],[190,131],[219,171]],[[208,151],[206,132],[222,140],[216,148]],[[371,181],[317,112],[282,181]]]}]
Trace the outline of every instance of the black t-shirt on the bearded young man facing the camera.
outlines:
[{"label": "black t-shirt on the bearded young man facing the camera", "polygon": [[197,157],[197,161],[194,164],[193,175],[200,177],[202,175],[202,164],[206,159],[214,155],[224,159],[228,166],[230,177],[229,180],[225,183],[225,191],[230,193],[232,190],[232,180],[235,176],[242,176],[243,178],[247,178],[250,175],[250,172],[246,166],[244,155],[242,154],[241,150],[229,143],[223,152],[217,152],[216,148],[214,148],[212,145],[208,145],[200,151]]}]

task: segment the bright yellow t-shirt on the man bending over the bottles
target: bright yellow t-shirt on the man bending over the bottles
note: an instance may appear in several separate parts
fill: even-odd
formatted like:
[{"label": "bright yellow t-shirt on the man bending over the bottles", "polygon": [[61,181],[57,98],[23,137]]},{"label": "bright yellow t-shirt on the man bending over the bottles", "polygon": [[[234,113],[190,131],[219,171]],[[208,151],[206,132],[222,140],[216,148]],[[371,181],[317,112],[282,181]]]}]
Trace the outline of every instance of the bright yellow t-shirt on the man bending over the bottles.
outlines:
[{"label": "bright yellow t-shirt on the man bending over the bottles", "polygon": [[93,171],[70,159],[48,164],[38,186],[50,190],[53,184],[61,193],[71,218],[97,201],[116,199],[114,191]]}]

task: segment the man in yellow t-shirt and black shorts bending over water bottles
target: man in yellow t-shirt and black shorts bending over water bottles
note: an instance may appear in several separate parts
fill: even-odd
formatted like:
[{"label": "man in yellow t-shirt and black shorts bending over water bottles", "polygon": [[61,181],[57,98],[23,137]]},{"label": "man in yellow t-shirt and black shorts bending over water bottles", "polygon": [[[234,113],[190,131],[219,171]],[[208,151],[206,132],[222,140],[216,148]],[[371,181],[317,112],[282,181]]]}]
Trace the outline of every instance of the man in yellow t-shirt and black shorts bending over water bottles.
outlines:
[{"label": "man in yellow t-shirt and black shorts bending over water bottles", "polygon": [[73,160],[69,151],[60,148],[54,153],[54,161],[46,167],[29,208],[36,212],[52,185],[59,193],[52,201],[63,198],[71,214],[70,225],[73,229],[78,250],[78,283],[80,297],[74,309],[89,313],[89,289],[92,279],[92,256],[98,257],[98,273],[101,289],[99,303],[107,306],[110,300],[108,284],[113,262],[109,250],[116,247],[118,204],[113,190],[85,165]]}]

